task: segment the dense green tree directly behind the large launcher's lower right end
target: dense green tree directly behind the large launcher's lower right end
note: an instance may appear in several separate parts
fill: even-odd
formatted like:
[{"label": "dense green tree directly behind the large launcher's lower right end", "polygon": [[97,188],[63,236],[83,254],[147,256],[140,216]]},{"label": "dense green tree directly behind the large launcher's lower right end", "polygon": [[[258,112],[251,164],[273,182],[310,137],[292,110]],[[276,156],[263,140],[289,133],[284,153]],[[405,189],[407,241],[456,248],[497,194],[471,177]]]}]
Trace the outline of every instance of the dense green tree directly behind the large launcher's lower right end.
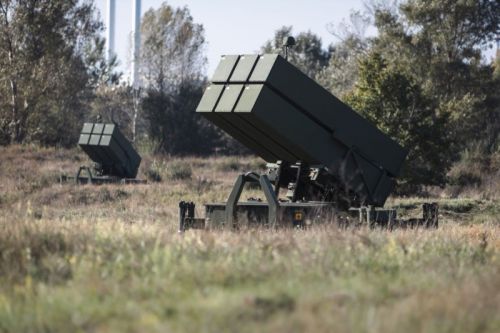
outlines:
[{"label": "dense green tree directly behind the large launcher's lower right end", "polygon": [[450,166],[442,131],[446,118],[435,114],[432,101],[410,75],[371,53],[360,63],[359,80],[345,101],[409,149],[403,184],[444,185]]}]

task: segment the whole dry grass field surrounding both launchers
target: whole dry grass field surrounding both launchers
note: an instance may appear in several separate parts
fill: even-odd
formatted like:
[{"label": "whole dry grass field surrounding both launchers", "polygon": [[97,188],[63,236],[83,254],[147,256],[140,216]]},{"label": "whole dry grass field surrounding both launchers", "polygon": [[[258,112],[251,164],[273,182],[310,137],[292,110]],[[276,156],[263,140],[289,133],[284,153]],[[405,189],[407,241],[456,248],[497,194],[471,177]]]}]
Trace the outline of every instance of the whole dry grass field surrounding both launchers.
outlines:
[{"label": "whole dry grass field surrounding both launchers", "polygon": [[0,332],[500,331],[498,197],[389,200],[437,200],[438,230],[179,235],[179,200],[225,200],[262,163],[146,157],[161,181],[91,187],[57,182],[77,150],[0,156]]}]

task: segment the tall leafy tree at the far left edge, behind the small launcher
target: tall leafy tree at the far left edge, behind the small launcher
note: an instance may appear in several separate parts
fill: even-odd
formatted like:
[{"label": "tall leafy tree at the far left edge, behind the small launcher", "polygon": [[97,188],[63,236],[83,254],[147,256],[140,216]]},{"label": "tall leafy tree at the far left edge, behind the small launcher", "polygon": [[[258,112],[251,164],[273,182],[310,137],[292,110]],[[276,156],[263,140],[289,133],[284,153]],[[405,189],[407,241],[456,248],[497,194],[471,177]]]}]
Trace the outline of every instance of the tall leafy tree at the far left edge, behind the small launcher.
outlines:
[{"label": "tall leafy tree at the far left edge, behind the small launcher", "polygon": [[74,142],[83,105],[107,71],[94,52],[102,51],[94,12],[90,0],[0,0],[3,144]]}]

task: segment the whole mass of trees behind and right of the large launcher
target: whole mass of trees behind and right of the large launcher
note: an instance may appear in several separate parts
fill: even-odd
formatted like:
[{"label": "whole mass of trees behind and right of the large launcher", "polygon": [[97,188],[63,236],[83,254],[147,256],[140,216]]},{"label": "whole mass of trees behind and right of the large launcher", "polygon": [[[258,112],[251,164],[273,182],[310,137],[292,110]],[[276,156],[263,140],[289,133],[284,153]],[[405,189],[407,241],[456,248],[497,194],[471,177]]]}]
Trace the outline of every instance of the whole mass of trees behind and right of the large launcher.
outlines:
[{"label": "whole mass of trees behind and right of the large launcher", "polygon": [[[291,62],[410,149],[405,184],[444,185],[463,149],[480,145],[492,154],[498,147],[500,81],[482,50],[499,33],[499,7],[487,0],[372,1],[368,11],[329,27],[340,42],[327,53],[319,38],[299,34],[311,47],[298,43]],[[370,23],[379,34],[366,38]],[[263,50],[279,48],[290,33],[278,30]]]}]

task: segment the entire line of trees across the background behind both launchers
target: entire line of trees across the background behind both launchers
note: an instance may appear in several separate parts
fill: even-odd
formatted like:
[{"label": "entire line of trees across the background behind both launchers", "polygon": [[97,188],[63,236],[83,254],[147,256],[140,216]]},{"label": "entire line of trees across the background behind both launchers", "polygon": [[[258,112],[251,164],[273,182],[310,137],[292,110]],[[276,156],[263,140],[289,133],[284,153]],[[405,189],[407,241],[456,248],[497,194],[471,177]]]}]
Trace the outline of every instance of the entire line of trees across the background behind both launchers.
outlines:
[{"label": "entire line of trees across the background behind both launchers", "polygon": [[[338,42],[282,27],[262,46],[289,61],[410,149],[403,184],[444,185],[464,152],[484,163],[500,141],[500,4],[494,0],[367,2]],[[163,3],[141,25],[141,89],[104,56],[91,0],[0,0],[0,144],[71,146],[98,114],[157,153],[242,153],[194,113],[207,84],[206,40],[187,8]],[[377,35],[367,37],[375,26]],[[122,78],[122,80],[120,80]],[[248,152],[248,151],[246,151]],[[469,154],[470,155],[470,154]]]}]

